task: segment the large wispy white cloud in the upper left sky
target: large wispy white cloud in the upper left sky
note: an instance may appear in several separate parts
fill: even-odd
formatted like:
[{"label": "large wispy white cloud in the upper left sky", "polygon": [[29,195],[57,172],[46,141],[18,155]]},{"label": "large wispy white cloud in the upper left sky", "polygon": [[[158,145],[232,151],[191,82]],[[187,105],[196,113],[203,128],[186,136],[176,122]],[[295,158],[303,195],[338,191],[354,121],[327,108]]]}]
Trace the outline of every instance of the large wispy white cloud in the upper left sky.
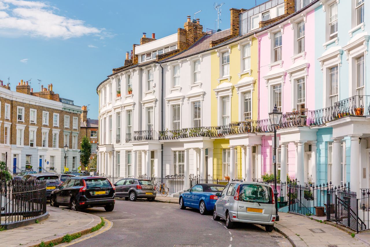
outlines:
[{"label": "large wispy white cloud in the upper left sky", "polygon": [[33,37],[62,39],[90,34],[109,36],[105,34],[104,29],[90,27],[83,20],[55,14],[55,8],[40,1],[0,0],[1,8],[4,11],[0,11],[0,30],[9,31],[9,35],[21,32]]}]

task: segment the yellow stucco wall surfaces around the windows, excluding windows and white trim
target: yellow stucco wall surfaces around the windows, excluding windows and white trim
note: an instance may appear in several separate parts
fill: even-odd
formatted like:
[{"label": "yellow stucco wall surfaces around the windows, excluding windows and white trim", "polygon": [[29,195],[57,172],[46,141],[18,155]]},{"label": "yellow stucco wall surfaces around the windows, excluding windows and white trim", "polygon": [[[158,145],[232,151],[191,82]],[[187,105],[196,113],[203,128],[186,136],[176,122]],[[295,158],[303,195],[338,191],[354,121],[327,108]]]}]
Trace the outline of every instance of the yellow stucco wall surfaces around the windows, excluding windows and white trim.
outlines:
[{"label": "yellow stucco wall surfaces around the windows, excluding windows and white trim", "polygon": [[[243,42],[243,40],[241,41]],[[223,50],[225,47],[220,47],[218,50]],[[241,62],[241,55],[242,50],[238,50],[238,45],[234,44],[231,46],[231,53],[230,56],[230,82],[228,79],[221,80],[220,84],[218,83],[217,79],[220,77],[220,62],[221,62],[221,52],[219,56],[217,56],[217,52],[211,53],[211,94],[214,94],[213,89],[217,88],[217,86],[221,85],[224,82],[232,83],[236,85],[239,80],[243,79],[244,77],[253,77],[255,79],[254,88],[255,90],[252,92],[252,119],[257,119],[257,102],[258,102],[258,86],[257,86],[257,54],[258,54],[258,41],[253,38],[252,39],[252,46],[250,47],[251,53],[251,74],[249,73],[246,75],[242,75],[239,79],[238,73],[240,73],[240,62]],[[212,126],[218,125],[219,119],[219,112],[218,112],[218,102],[216,97],[211,98],[211,124]],[[236,92],[236,89],[233,88],[232,97],[231,97],[231,122],[238,122],[239,121],[239,96]],[[213,177],[214,178],[223,178],[222,177],[222,149],[229,148],[229,140],[225,138],[215,139],[213,142]],[[236,177],[244,177],[242,175],[242,152],[240,146],[237,148],[237,169],[236,169]]]}]

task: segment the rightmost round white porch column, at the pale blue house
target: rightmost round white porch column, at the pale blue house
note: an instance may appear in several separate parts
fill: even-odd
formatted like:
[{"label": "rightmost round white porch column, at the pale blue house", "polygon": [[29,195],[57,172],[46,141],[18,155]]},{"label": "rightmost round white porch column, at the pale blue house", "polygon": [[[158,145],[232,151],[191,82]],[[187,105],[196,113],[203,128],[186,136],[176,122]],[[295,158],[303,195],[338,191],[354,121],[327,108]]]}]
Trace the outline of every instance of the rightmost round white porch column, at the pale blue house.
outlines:
[{"label": "rightmost round white porch column, at the pale blue house", "polygon": [[360,139],[358,135],[351,137],[351,161],[350,161],[350,189],[357,193],[360,198]]}]

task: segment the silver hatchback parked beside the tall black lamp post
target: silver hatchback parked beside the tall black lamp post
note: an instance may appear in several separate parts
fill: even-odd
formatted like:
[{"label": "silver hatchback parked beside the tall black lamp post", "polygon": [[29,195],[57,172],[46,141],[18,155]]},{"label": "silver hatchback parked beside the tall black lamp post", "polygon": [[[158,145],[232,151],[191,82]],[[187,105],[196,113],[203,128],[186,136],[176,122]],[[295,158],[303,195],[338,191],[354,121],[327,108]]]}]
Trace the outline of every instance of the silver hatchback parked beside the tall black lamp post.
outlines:
[{"label": "silver hatchback parked beside the tall black lamp post", "polygon": [[229,182],[213,208],[213,220],[223,218],[227,228],[234,222],[264,225],[272,231],[276,220],[275,199],[268,184]]}]

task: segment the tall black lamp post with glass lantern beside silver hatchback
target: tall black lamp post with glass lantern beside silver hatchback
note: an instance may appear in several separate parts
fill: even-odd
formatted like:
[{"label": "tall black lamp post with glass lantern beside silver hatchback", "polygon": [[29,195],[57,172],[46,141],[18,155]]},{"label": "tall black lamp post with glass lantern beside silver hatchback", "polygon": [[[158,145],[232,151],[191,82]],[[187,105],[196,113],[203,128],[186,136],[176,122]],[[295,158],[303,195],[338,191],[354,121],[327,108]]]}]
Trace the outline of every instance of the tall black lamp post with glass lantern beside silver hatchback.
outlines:
[{"label": "tall black lamp post with glass lantern beside silver hatchback", "polygon": [[[275,221],[279,221],[279,215],[277,214],[277,188],[276,188],[276,129],[281,123],[282,114],[283,114],[282,112],[279,112],[279,110],[277,110],[276,104],[272,112],[269,113],[270,123],[274,129],[274,156],[272,159],[274,162],[274,197],[275,197],[275,209],[276,209],[276,220]],[[283,176],[285,175],[283,174]]]}]

